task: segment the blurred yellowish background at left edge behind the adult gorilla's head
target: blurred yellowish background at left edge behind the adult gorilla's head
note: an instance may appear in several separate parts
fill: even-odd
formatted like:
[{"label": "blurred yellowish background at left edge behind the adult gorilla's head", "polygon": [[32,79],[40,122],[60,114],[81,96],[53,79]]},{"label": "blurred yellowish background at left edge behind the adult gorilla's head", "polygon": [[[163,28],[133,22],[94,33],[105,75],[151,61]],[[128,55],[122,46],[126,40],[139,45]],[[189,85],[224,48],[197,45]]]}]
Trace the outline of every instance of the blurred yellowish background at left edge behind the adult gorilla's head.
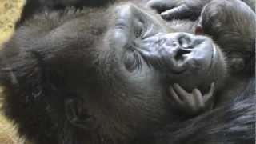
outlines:
[{"label": "blurred yellowish background at left edge behind the adult gorilla's head", "polygon": [[[10,38],[14,23],[18,20],[25,0],[0,0],[0,50],[2,43]],[[2,88],[0,86],[0,107],[2,105]],[[28,144],[17,135],[16,127],[1,114],[0,109],[0,144]]]}]

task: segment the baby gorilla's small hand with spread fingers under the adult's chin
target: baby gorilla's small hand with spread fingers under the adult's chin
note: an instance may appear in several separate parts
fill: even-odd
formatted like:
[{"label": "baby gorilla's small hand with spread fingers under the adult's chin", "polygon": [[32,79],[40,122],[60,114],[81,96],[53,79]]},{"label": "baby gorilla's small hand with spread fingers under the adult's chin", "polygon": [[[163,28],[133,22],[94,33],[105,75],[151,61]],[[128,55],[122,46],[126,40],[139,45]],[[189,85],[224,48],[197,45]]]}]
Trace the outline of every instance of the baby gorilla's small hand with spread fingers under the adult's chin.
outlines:
[{"label": "baby gorilla's small hand with spread fingers under the adult's chin", "polygon": [[198,89],[194,89],[192,90],[192,93],[188,93],[178,84],[170,86],[169,92],[170,97],[168,99],[175,107],[178,108],[178,110],[181,110],[188,115],[195,115],[212,106],[214,82],[211,83],[209,92],[204,95],[202,95],[201,91]]}]

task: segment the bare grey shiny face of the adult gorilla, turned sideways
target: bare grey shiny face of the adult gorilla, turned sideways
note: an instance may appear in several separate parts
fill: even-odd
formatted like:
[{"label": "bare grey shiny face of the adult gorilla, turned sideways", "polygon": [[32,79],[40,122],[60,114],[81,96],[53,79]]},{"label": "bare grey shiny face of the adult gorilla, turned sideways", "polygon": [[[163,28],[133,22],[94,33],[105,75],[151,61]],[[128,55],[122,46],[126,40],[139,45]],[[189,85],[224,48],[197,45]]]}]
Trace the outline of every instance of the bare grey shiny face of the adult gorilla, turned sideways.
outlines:
[{"label": "bare grey shiny face of the adult gorilla, turned sideways", "polygon": [[224,58],[210,38],[175,32],[155,14],[131,4],[118,6],[114,14],[106,38],[110,49],[118,53],[118,67],[124,67],[130,78],[144,82],[148,75],[161,87],[177,82],[192,90],[207,89],[225,76]]}]

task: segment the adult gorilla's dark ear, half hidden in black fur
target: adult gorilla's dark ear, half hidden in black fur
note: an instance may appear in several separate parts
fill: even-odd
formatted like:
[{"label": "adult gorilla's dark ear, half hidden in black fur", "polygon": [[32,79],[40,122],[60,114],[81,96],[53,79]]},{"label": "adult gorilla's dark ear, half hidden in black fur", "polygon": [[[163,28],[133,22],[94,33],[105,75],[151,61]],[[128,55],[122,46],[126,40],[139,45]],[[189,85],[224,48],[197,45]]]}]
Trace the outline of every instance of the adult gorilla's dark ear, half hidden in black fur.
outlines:
[{"label": "adult gorilla's dark ear, half hidden in black fur", "polygon": [[95,126],[94,118],[87,113],[81,98],[69,98],[65,101],[65,114],[67,120],[81,129],[90,130]]}]

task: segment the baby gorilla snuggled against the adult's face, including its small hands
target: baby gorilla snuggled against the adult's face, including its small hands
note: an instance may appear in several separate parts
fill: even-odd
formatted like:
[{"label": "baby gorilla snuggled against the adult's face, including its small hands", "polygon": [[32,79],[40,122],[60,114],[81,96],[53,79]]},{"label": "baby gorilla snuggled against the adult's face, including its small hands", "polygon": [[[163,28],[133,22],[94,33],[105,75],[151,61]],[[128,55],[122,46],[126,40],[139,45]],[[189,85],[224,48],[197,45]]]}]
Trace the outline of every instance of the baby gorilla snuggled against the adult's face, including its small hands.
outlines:
[{"label": "baby gorilla snuggled against the adult's face, including its small hands", "polygon": [[[225,86],[229,87],[229,90],[226,91],[233,93],[232,91],[243,87],[244,84],[242,83],[245,81],[244,79],[254,77],[254,70],[251,67],[254,67],[255,14],[243,2],[229,0],[223,2],[218,0],[183,2],[150,0],[148,6],[158,10],[162,18],[170,19],[170,27],[192,34],[210,35],[214,39],[214,42],[217,42],[218,46],[221,46],[222,51],[226,53],[228,66],[228,74],[223,73],[223,75],[226,75],[224,77],[228,77],[226,83],[239,83],[237,86],[236,84],[232,84],[230,87]],[[171,18],[197,18],[198,20],[189,22],[187,20],[171,20]],[[244,23],[248,25],[241,30],[239,26],[242,26]],[[179,94],[175,94],[174,88],[171,86],[170,93],[173,97],[171,100],[177,103],[178,107],[181,107],[182,110],[192,110],[188,112],[195,110],[194,112],[197,112],[200,109],[205,109],[202,102],[207,103],[208,101],[206,107],[210,106],[210,102],[212,102],[209,101],[209,98],[213,96],[214,85],[211,86],[210,92],[206,94],[206,97],[202,97],[202,94],[197,89],[194,89],[192,94],[188,94],[186,91],[181,90],[180,86],[175,85],[174,87],[176,87],[175,89]],[[229,92],[217,94],[224,96],[224,98],[218,98],[220,103],[225,103],[226,100],[224,99],[230,99]],[[206,100],[203,100],[203,98]],[[192,106],[195,102],[198,104]]]}]

